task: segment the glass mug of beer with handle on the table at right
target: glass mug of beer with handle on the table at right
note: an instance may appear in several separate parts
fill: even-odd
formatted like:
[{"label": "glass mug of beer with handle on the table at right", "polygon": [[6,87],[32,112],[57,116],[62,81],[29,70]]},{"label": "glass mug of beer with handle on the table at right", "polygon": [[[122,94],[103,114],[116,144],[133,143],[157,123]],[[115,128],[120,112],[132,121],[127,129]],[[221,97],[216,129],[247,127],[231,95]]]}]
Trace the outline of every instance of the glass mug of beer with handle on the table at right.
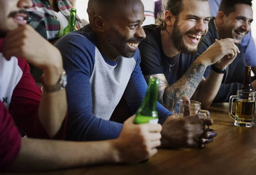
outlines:
[{"label": "glass mug of beer with handle on the table at right", "polygon": [[[233,118],[235,126],[255,126],[255,97],[256,91],[238,90],[237,95],[230,96],[229,116]],[[232,114],[233,100],[236,102],[236,115]]]}]

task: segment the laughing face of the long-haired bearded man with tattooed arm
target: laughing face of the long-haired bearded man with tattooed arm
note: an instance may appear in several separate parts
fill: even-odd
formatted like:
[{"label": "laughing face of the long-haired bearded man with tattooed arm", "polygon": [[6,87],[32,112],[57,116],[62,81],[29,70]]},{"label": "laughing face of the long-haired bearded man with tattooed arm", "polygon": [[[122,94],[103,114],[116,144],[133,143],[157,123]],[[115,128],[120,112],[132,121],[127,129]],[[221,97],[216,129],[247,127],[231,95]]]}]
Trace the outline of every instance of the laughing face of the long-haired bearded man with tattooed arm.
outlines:
[{"label": "laughing face of the long-haired bearded man with tattooed arm", "polygon": [[178,51],[192,54],[208,31],[210,11],[208,2],[183,0],[183,10],[172,28],[172,42]]}]

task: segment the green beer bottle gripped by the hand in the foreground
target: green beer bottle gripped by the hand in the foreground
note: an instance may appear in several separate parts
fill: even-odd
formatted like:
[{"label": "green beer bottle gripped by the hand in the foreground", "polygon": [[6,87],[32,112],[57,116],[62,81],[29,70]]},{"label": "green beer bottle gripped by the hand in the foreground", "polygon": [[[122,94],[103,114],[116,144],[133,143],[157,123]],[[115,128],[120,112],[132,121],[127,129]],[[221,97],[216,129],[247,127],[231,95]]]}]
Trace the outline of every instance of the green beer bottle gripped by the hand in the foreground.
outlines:
[{"label": "green beer bottle gripped by the hand in the foreground", "polygon": [[134,123],[157,123],[157,96],[159,80],[156,77],[150,77],[148,89],[143,100],[142,106],[138,110]]}]

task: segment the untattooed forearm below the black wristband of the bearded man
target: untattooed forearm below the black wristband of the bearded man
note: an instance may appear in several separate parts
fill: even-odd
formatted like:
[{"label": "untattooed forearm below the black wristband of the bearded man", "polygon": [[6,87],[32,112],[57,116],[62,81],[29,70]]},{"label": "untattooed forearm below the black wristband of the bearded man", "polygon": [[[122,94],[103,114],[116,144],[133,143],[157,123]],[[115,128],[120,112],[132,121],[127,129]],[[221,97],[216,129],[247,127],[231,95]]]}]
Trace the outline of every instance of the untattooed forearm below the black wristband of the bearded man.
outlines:
[{"label": "untattooed forearm below the black wristband of the bearded man", "polygon": [[224,74],[218,74],[211,70],[208,78],[202,83],[198,91],[197,100],[201,102],[202,109],[207,109],[217,95]]}]

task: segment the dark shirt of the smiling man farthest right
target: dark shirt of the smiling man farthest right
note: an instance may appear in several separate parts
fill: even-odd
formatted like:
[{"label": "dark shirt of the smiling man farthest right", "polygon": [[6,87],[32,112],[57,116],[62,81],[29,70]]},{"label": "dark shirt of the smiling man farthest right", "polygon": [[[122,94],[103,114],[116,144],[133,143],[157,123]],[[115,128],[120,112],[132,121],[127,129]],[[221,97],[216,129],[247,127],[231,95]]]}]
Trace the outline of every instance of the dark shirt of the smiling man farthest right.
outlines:
[{"label": "dark shirt of the smiling man farthest right", "polygon": [[[205,39],[200,44],[198,48],[198,56],[204,53],[209,46],[211,46],[215,39],[218,39],[218,32],[214,24],[214,19],[212,18],[209,21],[209,29],[205,36]],[[244,68],[245,68],[245,60],[244,60],[244,52],[242,51],[242,47],[240,44],[236,44],[240,50],[240,53],[236,56],[235,60],[227,67],[228,71],[224,75],[222,80],[221,87],[218,91],[213,102],[228,102],[230,95],[236,95],[236,92],[242,86],[244,78]],[[206,70],[204,76],[207,77],[209,74],[209,69]]]}]

